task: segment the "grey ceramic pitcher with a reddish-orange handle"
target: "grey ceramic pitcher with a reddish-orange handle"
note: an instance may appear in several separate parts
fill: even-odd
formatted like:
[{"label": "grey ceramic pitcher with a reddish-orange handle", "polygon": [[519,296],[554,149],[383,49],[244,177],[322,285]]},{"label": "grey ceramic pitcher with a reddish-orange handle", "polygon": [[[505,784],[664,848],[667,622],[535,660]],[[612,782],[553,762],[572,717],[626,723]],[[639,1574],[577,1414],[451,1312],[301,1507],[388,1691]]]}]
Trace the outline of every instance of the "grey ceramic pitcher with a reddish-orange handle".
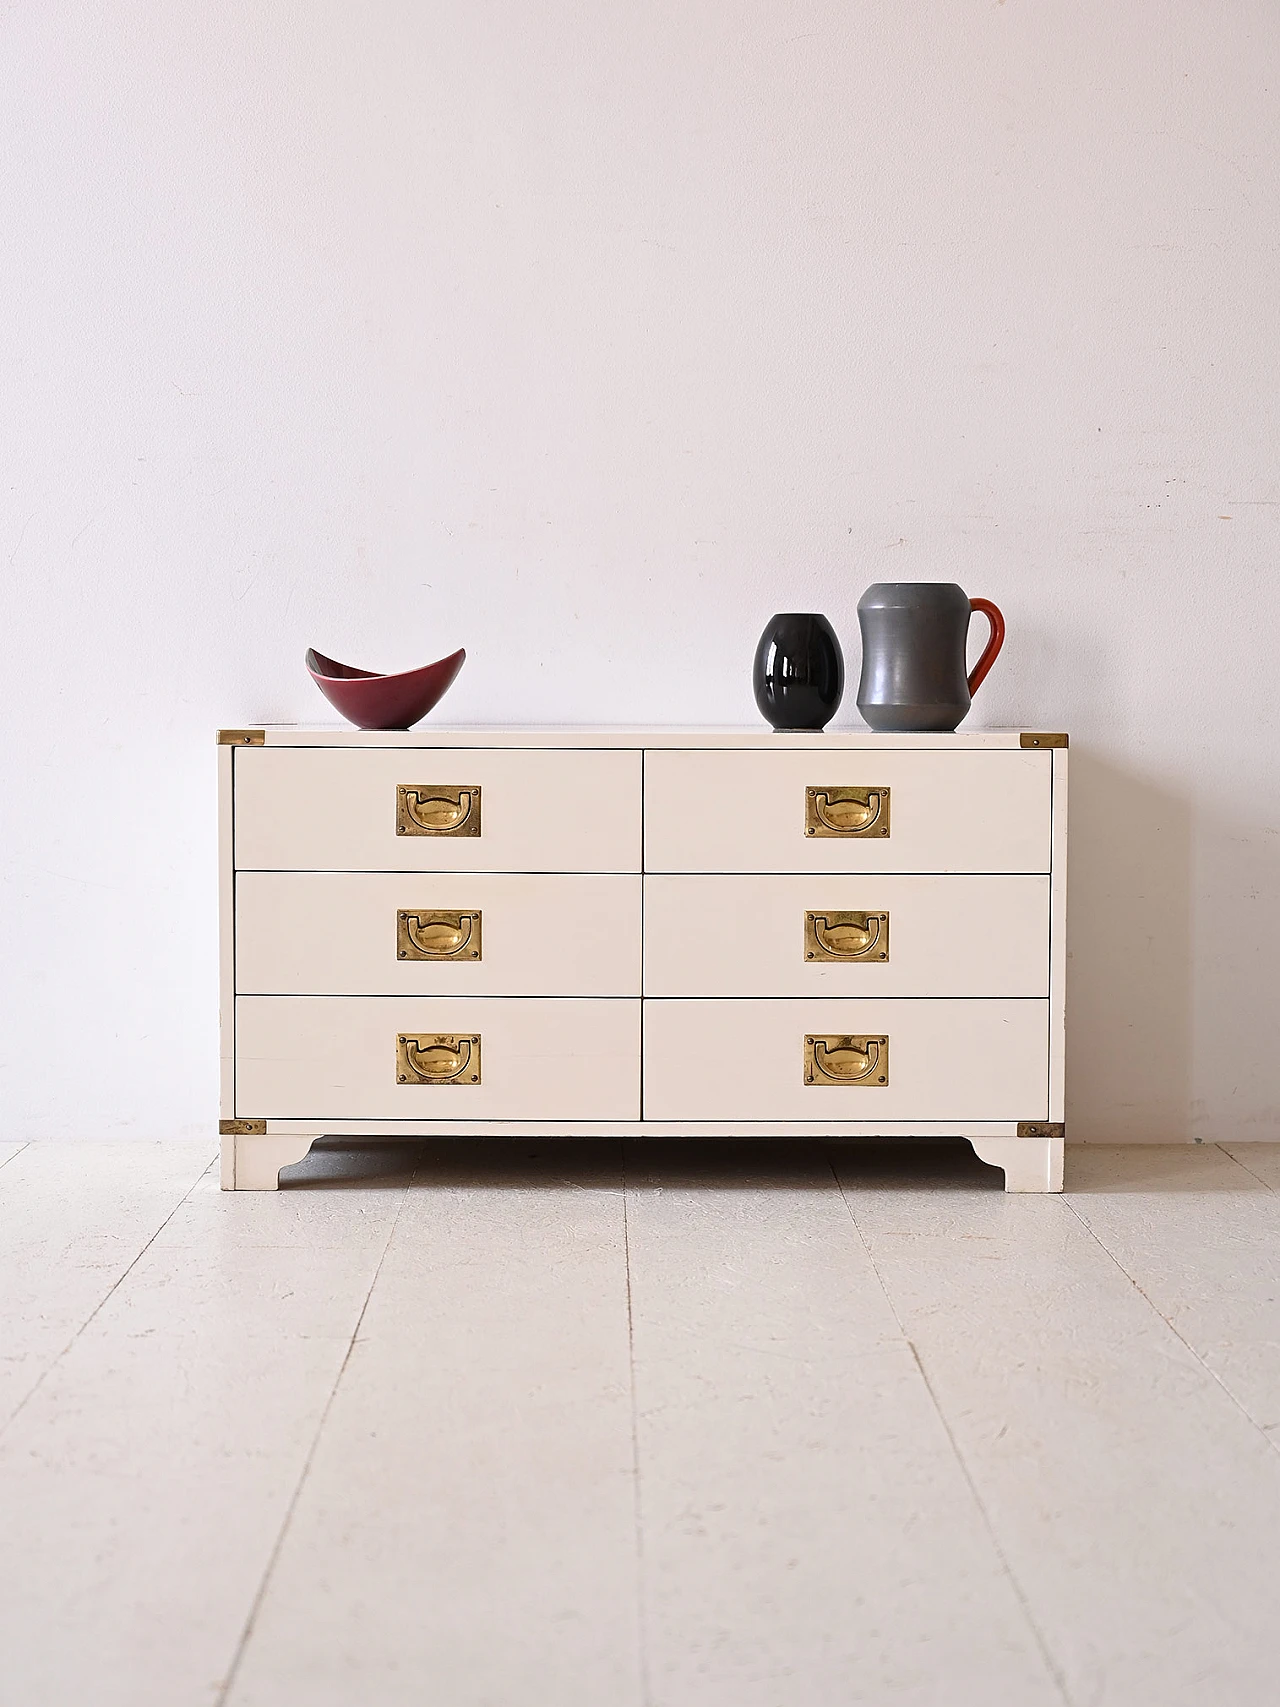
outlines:
[{"label": "grey ceramic pitcher with a reddish-orange handle", "polygon": [[[966,676],[973,611],[988,618],[992,635]],[[954,729],[1005,640],[998,608],[952,580],[877,580],[858,599],[858,710],[882,731]]]}]

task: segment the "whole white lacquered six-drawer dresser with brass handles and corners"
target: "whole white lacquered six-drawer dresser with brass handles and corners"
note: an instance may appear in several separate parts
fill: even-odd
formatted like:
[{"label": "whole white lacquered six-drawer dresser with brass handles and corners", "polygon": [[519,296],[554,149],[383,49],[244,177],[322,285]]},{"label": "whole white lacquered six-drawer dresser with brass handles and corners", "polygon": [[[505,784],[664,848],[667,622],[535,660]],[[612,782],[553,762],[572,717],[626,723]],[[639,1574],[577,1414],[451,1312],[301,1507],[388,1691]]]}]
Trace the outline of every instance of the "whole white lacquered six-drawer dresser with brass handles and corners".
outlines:
[{"label": "whole white lacquered six-drawer dresser with brass handles and corners", "polygon": [[1062,1190],[1067,737],[218,736],[222,1183],[321,1135],[964,1137]]}]

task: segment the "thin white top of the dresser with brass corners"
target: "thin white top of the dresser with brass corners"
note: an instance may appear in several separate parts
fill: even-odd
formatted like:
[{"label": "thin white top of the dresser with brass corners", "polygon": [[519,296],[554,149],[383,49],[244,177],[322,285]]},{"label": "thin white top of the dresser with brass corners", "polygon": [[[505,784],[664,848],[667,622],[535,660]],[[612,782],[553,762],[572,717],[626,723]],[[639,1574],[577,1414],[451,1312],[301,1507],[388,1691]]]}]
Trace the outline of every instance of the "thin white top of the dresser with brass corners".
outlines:
[{"label": "thin white top of the dresser with brass corners", "polygon": [[916,749],[973,751],[1067,746],[1063,734],[1022,729],[959,729],[956,734],[876,734],[870,729],[829,729],[824,734],[778,734],[771,729],[643,729],[626,725],[493,725],[451,729],[350,729],[266,724],[218,731],[222,746],[292,748],[696,748],[778,751]]}]

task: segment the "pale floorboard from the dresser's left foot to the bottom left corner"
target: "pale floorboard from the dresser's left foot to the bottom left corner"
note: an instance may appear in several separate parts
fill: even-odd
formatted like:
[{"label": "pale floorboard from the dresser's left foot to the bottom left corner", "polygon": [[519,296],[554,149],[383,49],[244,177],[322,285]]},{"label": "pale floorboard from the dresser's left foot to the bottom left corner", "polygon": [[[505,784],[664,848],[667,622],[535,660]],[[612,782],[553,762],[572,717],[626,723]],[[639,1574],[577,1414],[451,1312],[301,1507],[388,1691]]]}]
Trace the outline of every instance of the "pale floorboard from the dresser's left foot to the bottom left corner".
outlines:
[{"label": "pale floorboard from the dresser's left foot to the bottom left corner", "polygon": [[[135,1149],[121,1193],[145,1202],[167,1162]],[[360,1171],[253,1198],[203,1176],[12,1422],[5,1702],[220,1698],[404,1195],[403,1178],[362,1186]],[[68,1178],[56,1209],[44,1190],[44,1222],[75,1217],[79,1195]]]}]

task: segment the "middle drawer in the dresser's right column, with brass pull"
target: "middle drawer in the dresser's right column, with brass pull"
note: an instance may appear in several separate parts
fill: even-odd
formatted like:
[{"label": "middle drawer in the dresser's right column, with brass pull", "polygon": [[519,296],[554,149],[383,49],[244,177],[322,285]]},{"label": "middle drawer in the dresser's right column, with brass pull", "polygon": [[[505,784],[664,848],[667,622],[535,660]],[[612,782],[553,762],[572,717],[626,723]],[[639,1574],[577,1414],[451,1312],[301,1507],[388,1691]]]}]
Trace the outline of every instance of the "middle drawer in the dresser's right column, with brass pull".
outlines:
[{"label": "middle drawer in the dresser's right column, with brass pull", "polygon": [[645,995],[1048,993],[1048,877],[645,877]]}]

